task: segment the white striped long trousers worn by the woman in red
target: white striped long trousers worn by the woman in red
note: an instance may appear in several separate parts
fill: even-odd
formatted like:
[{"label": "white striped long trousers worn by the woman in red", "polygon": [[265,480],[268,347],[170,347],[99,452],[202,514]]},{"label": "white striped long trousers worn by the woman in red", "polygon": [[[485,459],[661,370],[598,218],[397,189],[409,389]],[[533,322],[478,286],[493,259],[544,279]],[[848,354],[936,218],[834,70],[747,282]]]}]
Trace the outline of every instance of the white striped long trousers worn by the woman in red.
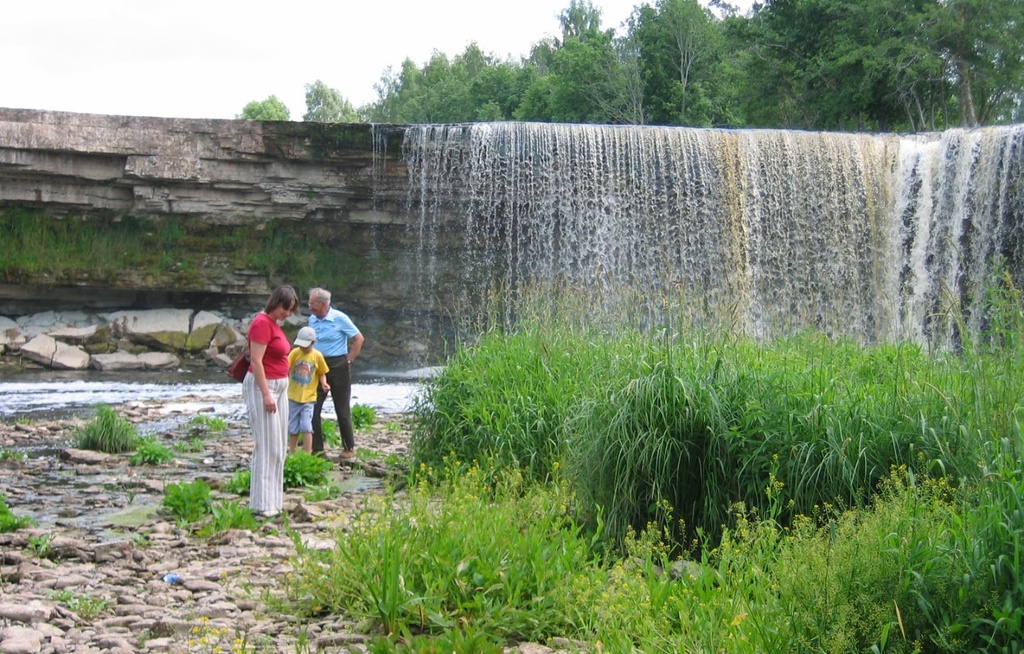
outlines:
[{"label": "white striped long trousers worn by the woman in red", "polygon": [[288,379],[267,380],[267,387],[278,403],[268,413],[263,395],[252,373],[242,382],[242,396],[253,430],[253,461],[250,468],[249,508],[254,512],[273,513],[285,502],[285,456],[288,454]]}]

